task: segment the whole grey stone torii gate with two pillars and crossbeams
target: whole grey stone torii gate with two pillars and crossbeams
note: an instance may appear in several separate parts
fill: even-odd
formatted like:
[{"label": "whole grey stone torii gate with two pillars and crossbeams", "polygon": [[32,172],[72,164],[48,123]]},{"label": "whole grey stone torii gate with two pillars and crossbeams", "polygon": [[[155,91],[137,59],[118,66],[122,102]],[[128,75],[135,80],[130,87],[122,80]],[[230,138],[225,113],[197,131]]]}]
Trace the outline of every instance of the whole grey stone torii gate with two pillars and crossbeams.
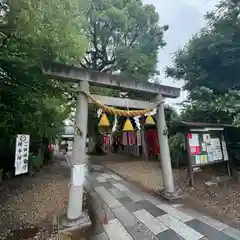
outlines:
[{"label": "whole grey stone torii gate with two pillars and crossbeams", "polygon": [[[164,113],[163,98],[177,98],[180,96],[180,89],[164,86],[156,83],[144,83],[135,79],[123,79],[120,76],[96,72],[79,67],[68,66],[60,63],[43,64],[42,72],[52,78],[59,80],[79,83],[80,91],[77,95],[76,106],[76,125],[80,126],[81,136],[75,134],[72,155],[71,186],[69,192],[69,202],[67,219],[71,224],[84,223],[87,217],[82,212],[82,195],[84,182],[84,164],[86,163],[85,142],[88,122],[88,103],[89,100],[84,94],[89,93],[89,85],[99,87],[110,87],[122,91],[134,91],[144,94],[150,101],[138,101],[128,99],[128,107],[135,109],[157,108],[157,129],[161,157],[161,167],[163,172],[164,195],[166,197],[176,196],[172,166],[168,145],[167,128]],[[125,106],[126,99],[107,96],[93,95],[105,105]],[[78,180],[76,180],[76,178]],[[70,224],[70,225],[71,225]],[[67,225],[67,224],[66,224]],[[69,225],[68,225],[69,226]]]}]

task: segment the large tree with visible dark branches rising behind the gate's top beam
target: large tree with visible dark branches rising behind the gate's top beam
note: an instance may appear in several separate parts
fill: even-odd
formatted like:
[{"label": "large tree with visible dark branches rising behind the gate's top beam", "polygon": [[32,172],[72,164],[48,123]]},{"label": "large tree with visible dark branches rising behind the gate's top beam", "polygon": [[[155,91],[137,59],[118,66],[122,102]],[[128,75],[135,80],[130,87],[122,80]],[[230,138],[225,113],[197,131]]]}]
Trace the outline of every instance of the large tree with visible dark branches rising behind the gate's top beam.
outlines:
[{"label": "large tree with visible dark branches rising behind the gate's top beam", "polygon": [[145,80],[153,76],[168,28],[159,26],[155,8],[140,0],[92,0],[90,5],[89,49],[81,65]]}]

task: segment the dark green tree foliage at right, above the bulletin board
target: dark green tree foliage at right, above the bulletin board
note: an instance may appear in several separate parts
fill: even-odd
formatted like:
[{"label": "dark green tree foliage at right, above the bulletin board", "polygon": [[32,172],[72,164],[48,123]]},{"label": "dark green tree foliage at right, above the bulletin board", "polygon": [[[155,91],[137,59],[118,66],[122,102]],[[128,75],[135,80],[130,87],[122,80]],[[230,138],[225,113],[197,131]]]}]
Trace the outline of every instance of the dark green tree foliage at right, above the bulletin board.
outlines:
[{"label": "dark green tree foliage at right, above the bulletin board", "polygon": [[166,73],[183,79],[189,91],[182,119],[238,122],[240,99],[240,9],[238,1],[222,1],[206,16],[207,27],[175,54]]}]

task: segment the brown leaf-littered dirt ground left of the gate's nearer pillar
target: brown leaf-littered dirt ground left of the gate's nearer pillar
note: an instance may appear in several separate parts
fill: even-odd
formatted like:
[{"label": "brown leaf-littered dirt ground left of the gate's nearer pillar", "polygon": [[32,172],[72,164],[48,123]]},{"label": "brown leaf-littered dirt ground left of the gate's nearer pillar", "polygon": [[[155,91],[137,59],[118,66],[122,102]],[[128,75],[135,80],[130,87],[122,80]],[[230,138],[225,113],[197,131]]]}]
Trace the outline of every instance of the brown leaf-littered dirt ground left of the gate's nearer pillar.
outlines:
[{"label": "brown leaf-littered dirt ground left of the gate's nearer pillar", "polygon": [[61,161],[0,186],[0,239],[59,239],[57,216],[66,209],[70,172]]}]

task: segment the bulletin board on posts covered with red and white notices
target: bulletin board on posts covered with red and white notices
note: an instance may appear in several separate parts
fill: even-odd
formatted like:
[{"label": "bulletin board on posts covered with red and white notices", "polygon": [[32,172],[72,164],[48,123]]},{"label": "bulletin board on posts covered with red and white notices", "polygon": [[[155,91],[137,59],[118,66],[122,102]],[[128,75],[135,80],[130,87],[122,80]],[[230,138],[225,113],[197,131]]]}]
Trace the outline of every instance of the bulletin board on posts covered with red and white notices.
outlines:
[{"label": "bulletin board on posts covered with red and white notices", "polygon": [[222,131],[189,132],[187,144],[191,182],[193,182],[193,168],[207,164],[226,161],[230,174],[228,152]]}]

